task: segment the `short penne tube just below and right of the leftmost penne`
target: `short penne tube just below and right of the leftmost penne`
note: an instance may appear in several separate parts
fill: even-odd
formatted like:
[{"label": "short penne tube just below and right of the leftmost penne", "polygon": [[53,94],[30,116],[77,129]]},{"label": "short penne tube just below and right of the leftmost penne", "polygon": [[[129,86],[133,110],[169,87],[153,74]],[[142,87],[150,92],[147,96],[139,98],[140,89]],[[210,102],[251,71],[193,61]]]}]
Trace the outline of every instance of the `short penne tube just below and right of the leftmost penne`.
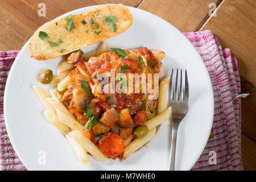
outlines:
[{"label": "short penne tube just below and right of the leftmost penne", "polygon": [[44,115],[46,116],[46,119],[51,122],[55,127],[57,127],[57,129],[59,129],[63,135],[68,134],[71,131],[68,126],[64,125],[59,121],[55,112],[52,113],[51,111],[46,110],[44,111]]}]

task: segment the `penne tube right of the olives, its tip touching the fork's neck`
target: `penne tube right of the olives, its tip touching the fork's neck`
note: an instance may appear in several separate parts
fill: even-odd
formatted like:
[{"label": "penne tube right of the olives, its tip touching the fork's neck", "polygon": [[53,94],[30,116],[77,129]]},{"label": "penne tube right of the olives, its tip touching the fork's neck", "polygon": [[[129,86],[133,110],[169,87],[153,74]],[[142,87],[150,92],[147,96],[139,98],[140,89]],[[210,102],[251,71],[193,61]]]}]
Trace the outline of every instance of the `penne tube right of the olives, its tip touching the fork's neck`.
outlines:
[{"label": "penne tube right of the olives, its tip touching the fork's neck", "polygon": [[148,130],[151,130],[152,128],[162,124],[164,121],[169,119],[172,114],[172,107],[168,107],[166,110],[164,110],[162,113],[156,115],[154,118],[149,119],[144,123],[148,127]]}]

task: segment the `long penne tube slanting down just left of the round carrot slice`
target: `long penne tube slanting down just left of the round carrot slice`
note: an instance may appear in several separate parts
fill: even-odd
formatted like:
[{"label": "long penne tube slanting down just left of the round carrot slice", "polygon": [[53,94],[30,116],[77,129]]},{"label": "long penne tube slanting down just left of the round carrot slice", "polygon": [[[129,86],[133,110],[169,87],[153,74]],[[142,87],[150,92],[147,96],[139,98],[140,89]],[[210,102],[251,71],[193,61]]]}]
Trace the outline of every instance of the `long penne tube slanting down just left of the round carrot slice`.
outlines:
[{"label": "long penne tube slanting down just left of the round carrot slice", "polygon": [[88,138],[84,137],[79,131],[71,131],[69,133],[82,147],[85,148],[95,159],[100,161],[108,161],[109,159],[102,154],[100,149],[92,143]]}]

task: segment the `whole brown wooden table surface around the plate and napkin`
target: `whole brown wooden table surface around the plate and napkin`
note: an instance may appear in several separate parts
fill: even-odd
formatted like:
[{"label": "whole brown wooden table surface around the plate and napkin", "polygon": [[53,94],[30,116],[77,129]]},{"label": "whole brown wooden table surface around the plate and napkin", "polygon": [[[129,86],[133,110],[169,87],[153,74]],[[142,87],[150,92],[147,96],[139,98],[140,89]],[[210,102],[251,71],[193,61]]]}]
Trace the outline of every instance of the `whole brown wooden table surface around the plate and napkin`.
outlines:
[{"label": "whole brown wooden table surface around the plate and napkin", "polygon": [[[46,16],[38,16],[38,4]],[[237,57],[242,79],[242,158],[246,170],[256,169],[256,1],[255,0],[2,0],[0,50],[19,50],[43,23],[85,6],[123,3],[154,13],[182,32],[212,30],[223,48]],[[210,4],[214,3],[214,4]],[[212,5],[212,6],[211,6]],[[216,16],[209,10],[217,7]]]}]

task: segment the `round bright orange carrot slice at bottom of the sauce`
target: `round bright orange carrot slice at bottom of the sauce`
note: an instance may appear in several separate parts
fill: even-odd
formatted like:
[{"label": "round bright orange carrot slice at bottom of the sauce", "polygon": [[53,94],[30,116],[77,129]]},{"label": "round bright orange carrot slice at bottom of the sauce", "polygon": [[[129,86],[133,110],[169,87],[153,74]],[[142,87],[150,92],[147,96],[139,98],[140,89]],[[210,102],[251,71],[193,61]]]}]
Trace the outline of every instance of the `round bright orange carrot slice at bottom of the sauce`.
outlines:
[{"label": "round bright orange carrot slice at bottom of the sauce", "polygon": [[98,146],[101,152],[109,157],[116,158],[123,152],[125,144],[123,138],[114,132],[105,133],[98,141]]}]

